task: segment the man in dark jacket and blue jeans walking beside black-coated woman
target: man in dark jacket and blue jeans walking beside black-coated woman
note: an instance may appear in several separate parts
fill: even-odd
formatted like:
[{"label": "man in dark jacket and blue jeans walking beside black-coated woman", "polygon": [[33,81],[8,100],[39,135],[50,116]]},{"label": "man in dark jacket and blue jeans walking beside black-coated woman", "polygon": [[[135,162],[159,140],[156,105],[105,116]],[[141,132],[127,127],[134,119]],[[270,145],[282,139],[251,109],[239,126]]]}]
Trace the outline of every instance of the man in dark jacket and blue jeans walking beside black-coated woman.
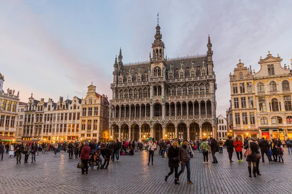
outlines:
[{"label": "man in dark jacket and blue jeans walking beside black-coated woman", "polygon": [[191,181],[191,163],[190,163],[191,157],[190,157],[190,150],[188,146],[188,141],[183,140],[183,145],[179,147],[179,161],[181,164],[181,170],[178,173],[178,178],[177,180],[179,181],[180,175],[183,173],[184,168],[186,166],[186,178],[187,184],[193,184]]}]

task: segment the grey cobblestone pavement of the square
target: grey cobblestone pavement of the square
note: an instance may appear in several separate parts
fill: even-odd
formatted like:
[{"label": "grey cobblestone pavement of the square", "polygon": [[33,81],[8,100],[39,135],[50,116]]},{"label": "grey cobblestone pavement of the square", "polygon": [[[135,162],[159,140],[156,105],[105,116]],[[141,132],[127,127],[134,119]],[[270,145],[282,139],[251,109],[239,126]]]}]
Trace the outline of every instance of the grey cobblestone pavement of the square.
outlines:
[{"label": "grey cobblestone pavement of the square", "polygon": [[[247,162],[234,163],[223,154],[216,153],[219,163],[203,164],[203,156],[195,151],[191,159],[191,180],[186,183],[186,169],[180,176],[181,185],[174,184],[174,174],[164,181],[168,173],[168,160],[155,151],[154,165],[147,166],[147,152],[135,152],[134,156],[120,156],[119,162],[111,162],[108,170],[89,169],[82,175],[77,169],[78,159],[69,160],[68,153],[54,156],[53,152],[40,153],[36,161],[16,164],[16,157],[4,154],[0,161],[1,194],[283,194],[292,190],[292,154],[284,149],[285,163],[260,162],[261,176],[248,177]],[[268,161],[265,158],[265,161]]]}]

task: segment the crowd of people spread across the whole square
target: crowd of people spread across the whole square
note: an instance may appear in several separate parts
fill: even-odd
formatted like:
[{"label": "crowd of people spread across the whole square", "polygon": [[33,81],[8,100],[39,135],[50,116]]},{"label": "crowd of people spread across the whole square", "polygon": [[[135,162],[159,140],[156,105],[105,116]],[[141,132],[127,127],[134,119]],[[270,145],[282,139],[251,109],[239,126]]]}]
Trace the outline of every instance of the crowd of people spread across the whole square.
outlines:
[{"label": "crowd of people spread across the whole square", "polygon": [[[292,153],[292,141],[288,138],[286,141],[280,141],[278,138],[268,141],[265,138],[255,139],[253,137],[246,139],[242,142],[238,137],[233,139],[229,136],[228,139],[223,142],[216,140],[215,138],[203,138],[200,141],[187,141],[187,140],[164,140],[160,139],[148,139],[143,142],[135,141],[111,141],[108,143],[101,142],[68,142],[68,143],[41,143],[36,142],[23,144],[20,141],[15,144],[7,143],[4,145],[0,142],[0,158],[3,160],[3,153],[9,153],[9,157],[16,157],[17,164],[21,163],[22,155],[24,155],[24,163],[28,163],[29,155],[31,155],[31,162],[36,162],[36,155],[39,152],[46,154],[49,151],[53,152],[56,156],[58,152],[67,152],[69,159],[80,159],[82,165],[82,174],[88,174],[88,165],[101,165],[102,169],[107,169],[110,161],[114,162],[115,159],[118,162],[120,155],[134,155],[134,152],[147,151],[148,163],[154,165],[153,156],[154,151],[158,150],[158,154],[162,155],[162,158],[168,158],[168,166],[170,172],[165,176],[165,181],[168,177],[175,173],[175,184],[180,184],[179,177],[187,169],[187,183],[193,184],[190,179],[190,158],[194,155],[194,151],[198,150],[203,154],[203,163],[208,163],[208,154],[212,154],[212,163],[218,163],[215,156],[216,152],[223,153],[223,148],[227,149],[229,161],[233,162],[233,152],[236,152],[237,162],[243,162],[243,157],[248,162],[249,177],[261,175],[259,172],[259,162],[265,162],[264,156],[268,158],[270,163],[281,162],[283,160],[283,147],[287,146],[288,153]],[[243,149],[245,153],[243,154]],[[101,156],[104,159],[102,163]],[[272,159],[273,157],[273,159]],[[178,171],[181,164],[181,170]]]}]

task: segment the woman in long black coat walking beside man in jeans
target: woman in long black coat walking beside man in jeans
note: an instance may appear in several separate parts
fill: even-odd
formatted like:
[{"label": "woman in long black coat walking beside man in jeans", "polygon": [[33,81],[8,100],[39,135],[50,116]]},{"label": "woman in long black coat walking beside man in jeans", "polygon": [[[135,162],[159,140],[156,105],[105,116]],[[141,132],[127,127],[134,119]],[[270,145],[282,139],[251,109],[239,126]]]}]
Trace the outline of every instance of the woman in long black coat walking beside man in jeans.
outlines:
[{"label": "woman in long black coat walking beside man in jeans", "polygon": [[172,142],[172,146],[168,148],[168,167],[170,172],[165,176],[165,182],[167,178],[173,173],[174,170],[174,184],[180,184],[178,182],[178,168],[179,168],[179,144],[177,141]]}]

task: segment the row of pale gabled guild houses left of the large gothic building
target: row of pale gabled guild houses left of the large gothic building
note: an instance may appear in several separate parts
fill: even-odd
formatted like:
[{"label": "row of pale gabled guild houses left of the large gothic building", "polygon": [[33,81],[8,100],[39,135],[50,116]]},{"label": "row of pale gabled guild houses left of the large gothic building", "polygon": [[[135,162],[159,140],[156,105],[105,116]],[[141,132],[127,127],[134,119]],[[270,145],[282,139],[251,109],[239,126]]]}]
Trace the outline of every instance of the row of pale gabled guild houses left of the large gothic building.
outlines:
[{"label": "row of pale gabled guild houses left of the large gothic building", "polygon": [[[23,104],[23,103],[22,103]],[[109,139],[108,97],[88,86],[87,96],[72,100],[59,97],[40,101],[33,97],[18,110],[18,139],[24,142],[42,141],[106,141]]]}]

